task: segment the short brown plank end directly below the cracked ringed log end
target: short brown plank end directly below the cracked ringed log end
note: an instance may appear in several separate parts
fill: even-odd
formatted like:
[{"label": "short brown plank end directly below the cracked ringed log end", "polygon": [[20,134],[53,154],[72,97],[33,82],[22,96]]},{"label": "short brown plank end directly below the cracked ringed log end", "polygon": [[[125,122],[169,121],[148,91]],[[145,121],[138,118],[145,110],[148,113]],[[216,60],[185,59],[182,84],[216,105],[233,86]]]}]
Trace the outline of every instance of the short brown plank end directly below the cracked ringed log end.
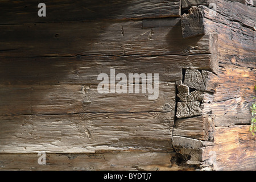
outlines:
[{"label": "short brown plank end directly below the cracked ringed log end", "polygon": [[199,117],[177,119],[175,121],[173,135],[208,140],[211,124],[209,114],[201,115]]}]

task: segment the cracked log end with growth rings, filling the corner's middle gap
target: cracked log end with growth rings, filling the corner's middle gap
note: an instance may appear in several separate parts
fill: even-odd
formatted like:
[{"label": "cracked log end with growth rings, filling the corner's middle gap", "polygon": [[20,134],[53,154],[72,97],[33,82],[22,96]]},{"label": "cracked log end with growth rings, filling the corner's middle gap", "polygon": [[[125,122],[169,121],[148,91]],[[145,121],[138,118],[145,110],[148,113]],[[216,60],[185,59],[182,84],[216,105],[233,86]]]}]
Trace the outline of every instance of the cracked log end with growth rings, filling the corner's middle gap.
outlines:
[{"label": "cracked log end with growth rings, filling the corner's middle gap", "polygon": [[[183,81],[177,81],[176,117],[188,118],[209,113],[210,107],[203,103],[210,103],[213,93],[218,86],[218,77],[212,72],[187,69]],[[202,105],[203,104],[203,105]]]}]

